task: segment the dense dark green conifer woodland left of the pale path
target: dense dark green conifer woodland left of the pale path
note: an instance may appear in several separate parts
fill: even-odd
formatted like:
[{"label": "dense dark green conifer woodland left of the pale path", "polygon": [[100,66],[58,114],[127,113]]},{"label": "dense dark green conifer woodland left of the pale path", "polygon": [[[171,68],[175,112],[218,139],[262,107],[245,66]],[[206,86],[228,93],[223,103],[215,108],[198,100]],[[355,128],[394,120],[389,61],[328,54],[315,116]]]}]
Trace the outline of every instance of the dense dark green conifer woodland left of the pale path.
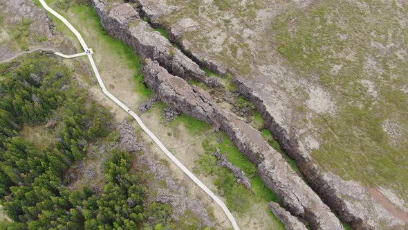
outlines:
[{"label": "dense dark green conifer woodland left of the pale path", "polygon": [[[1,65],[1,75],[0,195],[12,220],[1,222],[2,228],[160,229],[178,224],[170,218],[171,206],[147,202],[148,177],[133,168],[129,152],[118,150],[111,114],[70,79],[67,67],[55,58],[31,55]],[[39,149],[19,133],[24,125],[46,126],[44,132],[54,134],[55,141]],[[81,170],[91,146],[109,152],[100,162],[104,188],[68,188],[78,179],[68,172]]]}]

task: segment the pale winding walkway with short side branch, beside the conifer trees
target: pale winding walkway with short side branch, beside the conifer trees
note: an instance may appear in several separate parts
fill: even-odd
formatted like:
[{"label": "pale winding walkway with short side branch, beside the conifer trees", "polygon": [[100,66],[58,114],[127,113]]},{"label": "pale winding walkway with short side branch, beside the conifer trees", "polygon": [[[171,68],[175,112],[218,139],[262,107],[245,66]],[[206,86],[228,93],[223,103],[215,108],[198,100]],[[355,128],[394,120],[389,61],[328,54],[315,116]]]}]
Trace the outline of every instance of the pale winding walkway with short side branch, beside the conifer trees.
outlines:
[{"label": "pale winding walkway with short side branch, beside the conifer trees", "polygon": [[[82,48],[84,48],[85,53],[80,53],[77,55],[88,55],[89,58],[89,62],[91,62],[91,67],[93,69],[93,72],[95,73],[96,78],[98,79],[98,83],[102,89],[102,91],[104,92],[104,94],[106,94],[106,96],[108,96],[109,98],[111,98],[111,100],[113,100],[113,102],[115,102],[117,105],[119,105],[120,107],[122,107],[122,109],[124,109],[127,113],[129,113],[131,116],[133,116],[133,118],[136,119],[136,121],[138,122],[138,124],[140,125],[140,127],[142,127],[142,130],[145,131],[147,133],[147,135],[150,136],[151,139],[153,139],[153,141],[158,145],[158,147],[163,150],[163,152],[165,152],[165,154],[167,155],[167,157],[169,157],[169,159],[171,159],[171,161],[173,161],[174,163],[176,163],[176,166],[178,166],[178,168],[180,168],[181,170],[183,170],[183,172],[185,172],[185,174],[187,174],[187,176],[189,176],[193,182],[195,182],[198,186],[200,186],[201,189],[203,189],[203,191],[205,191],[205,193],[207,193],[208,195],[210,195],[210,197],[212,198],[212,200],[214,200],[217,204],[219,204],[219,206],[221,206],[221,209],[223,209],[225,215],[227,215],[228,219],[230,220],[232,227],[235,230],[239,230],[238,224],[235,221],[234,216],[232,215],[232,213],[230,212],[230,210],[228,210],[227,206],[225,206],[225,204],[219,199],[219,197],[217,197],[214,193],[212,193],[212,191],[210,190],[210,188],[207,188],[207,186],[205,186],[205,184],[203,184],[203,182],[201,182],[192,172],[190,172],[190,170],[188,168],[186,168],[183,163],[181,163],[180,161],[178,161],[178,159],[176,157],[174,157],[173,154],[171,154],[171,152],[169,152],[169,150],[167,150],[167,148],[165,147],[165,145],[163,145],[163,143],[156,137],[156,135],[154,135],[153,132],[151,132],[146,125],[142,122],[142,119],[140,119],[140,117],[133,111],[131,111],[131,109],[129,109],[129,107],[127,107],[126,105],[124,105],[120,100],[118,100],[118,98],[116,98],[115,96],[113,96],[104,86],[104,82],[102,81],[102,78],[100,78],[100,74],[98,71],[98,68],[96,67],[95,62],[93,61],[93,51],[92,49],[89,49],[88,46],[86,46],[86,43],[84,41],[84,39],[82,38],[82,35],[73,27],[73,25],[66,20],[64,17],[62,17],[62,15],[59,15],[59,13],[55,12],[52,8],[50,8],[47,3],[44,0],[39,0],[39,2],[42,4],[42,6],[51,14],[53,14],[55,17],[57,17],[58,19],[60,19],[62,22],[64,22],[64,24],[66,26],[68,26],[68,28],[77,36],[77,39],[80,41]],[[71,58],[74,57],[75,55],[62,55],[62,53],[55,53],[55,55],[59,55],[59,56],[67,56],[67,58]]]}]

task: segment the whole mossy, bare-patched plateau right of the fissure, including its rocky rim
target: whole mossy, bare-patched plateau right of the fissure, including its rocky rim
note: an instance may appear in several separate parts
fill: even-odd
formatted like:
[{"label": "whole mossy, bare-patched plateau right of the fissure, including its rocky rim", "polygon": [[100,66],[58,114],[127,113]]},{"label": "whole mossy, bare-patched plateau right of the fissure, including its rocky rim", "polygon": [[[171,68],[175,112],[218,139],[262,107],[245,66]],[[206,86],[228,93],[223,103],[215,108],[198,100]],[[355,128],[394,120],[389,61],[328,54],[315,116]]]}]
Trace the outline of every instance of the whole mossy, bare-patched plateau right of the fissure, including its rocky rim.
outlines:
[{"label": "whole mossy, bare-patched plateau right of the fissure, including its rocky rim", "polygon": [[233,73],[344,220],[407,221],[405,1],[136,2],[197,63]]}]

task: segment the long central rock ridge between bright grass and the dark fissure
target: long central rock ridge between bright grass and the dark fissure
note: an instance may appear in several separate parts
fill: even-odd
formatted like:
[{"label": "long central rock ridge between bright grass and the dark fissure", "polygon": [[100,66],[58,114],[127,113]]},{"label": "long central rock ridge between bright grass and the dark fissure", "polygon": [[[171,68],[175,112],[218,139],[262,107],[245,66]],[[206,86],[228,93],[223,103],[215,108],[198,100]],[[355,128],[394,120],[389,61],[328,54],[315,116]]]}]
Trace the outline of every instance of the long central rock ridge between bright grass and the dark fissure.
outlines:
[{"label": "long central rock ridge between bright grass and the dark fissure", "polygon": [[290,213],[306,219],[314,229],[342,229],[328,206],[288,166],[281,154],[263,141],[257,130],[234,114],[219,109],[207,92],[172,76],[158,63],[146,60],[142,71],[147,85],[167,105],[225,131],[237,148],[257,164],[263,181],[281,197]]}]

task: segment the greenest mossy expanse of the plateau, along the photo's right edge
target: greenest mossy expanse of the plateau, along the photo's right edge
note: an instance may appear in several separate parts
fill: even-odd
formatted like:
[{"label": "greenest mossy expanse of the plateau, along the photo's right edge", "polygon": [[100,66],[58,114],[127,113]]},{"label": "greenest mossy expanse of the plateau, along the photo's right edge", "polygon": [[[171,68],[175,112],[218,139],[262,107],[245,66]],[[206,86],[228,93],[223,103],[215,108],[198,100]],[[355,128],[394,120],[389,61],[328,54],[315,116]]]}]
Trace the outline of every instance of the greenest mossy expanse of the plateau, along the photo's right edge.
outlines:
[{"label": "greenest mossy expanse of the plateau, along the photo's right edge", "polygon": [[[313,157],[344,179],[389,186],[408,199],[408,10],[396,1],[322,1],[274,19],[272,43],[299,75],[318,76],[337,103]],[[395,15],[395,17],[390,17]],[[295,21],[295,23],[293,23]],[[397,136],[387,133],[393,125]],[[327,127],[327,124],[330,127]]]}]

